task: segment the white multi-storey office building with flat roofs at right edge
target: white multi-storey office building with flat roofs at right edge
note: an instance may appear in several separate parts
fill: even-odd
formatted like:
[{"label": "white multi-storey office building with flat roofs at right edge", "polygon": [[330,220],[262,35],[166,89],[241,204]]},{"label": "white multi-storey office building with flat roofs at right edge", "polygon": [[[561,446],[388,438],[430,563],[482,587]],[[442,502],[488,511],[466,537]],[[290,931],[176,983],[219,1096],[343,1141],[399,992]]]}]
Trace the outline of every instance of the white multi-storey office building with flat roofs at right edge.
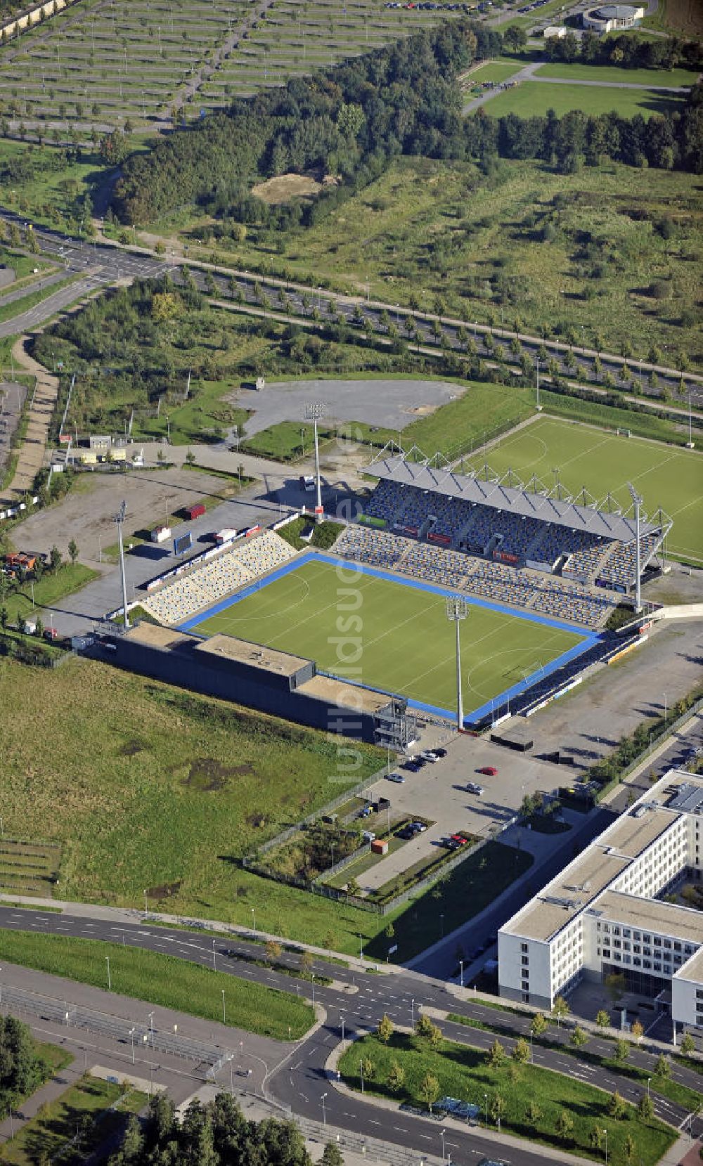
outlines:
[{"label": "white multi-storey office building with flat roofs at right edge", "polygon": [[703,778],[670,770],[498,933],[500,995],[550,1009],[624,975],[703,1030],[703,911],[665,901],[703,877]]}]

